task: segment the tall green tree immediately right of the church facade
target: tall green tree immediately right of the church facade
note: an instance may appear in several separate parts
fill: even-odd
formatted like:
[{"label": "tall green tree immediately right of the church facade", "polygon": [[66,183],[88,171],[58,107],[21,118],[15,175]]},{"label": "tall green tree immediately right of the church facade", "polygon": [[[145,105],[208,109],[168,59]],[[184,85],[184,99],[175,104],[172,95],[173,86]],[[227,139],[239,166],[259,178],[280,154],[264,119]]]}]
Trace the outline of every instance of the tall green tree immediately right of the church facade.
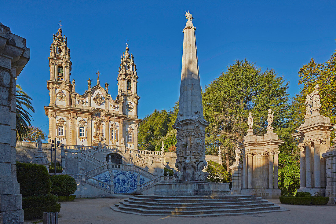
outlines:
[{"label": "tall green tree immediately right of the church facade", "polygon": [[168,130],[169,112],[162,109],[145,116],[139,125],[139,149],[155,150],[156,141]]}]

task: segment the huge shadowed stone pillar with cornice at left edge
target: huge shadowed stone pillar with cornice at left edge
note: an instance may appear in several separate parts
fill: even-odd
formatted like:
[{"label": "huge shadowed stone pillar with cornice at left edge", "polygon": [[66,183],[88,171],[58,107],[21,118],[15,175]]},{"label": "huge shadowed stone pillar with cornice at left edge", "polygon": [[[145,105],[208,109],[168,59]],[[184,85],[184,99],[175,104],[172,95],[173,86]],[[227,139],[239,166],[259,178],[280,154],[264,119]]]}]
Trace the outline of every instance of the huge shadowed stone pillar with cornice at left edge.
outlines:
[{"label": "huge shadowed stone pillar with cornice at left edge", "polygon": [[0,23],[0,214],[3,223],[23,223],[19,183],[16,181],[15,78],[30,57],[26,39]]}]

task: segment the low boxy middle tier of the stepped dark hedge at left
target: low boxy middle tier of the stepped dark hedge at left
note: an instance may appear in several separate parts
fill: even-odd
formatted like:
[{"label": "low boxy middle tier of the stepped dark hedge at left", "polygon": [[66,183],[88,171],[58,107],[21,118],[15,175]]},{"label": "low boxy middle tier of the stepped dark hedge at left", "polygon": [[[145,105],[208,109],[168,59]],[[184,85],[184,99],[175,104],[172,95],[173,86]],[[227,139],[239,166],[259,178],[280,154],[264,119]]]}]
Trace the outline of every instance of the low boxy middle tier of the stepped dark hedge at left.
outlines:
[{"label": "low boxy middle tier of the stepped dark hedge at left", "polygon": [[57,196],[29,196],[22,197],[22,209],[30,209],[36,207],[48,207],[57,203]]}]

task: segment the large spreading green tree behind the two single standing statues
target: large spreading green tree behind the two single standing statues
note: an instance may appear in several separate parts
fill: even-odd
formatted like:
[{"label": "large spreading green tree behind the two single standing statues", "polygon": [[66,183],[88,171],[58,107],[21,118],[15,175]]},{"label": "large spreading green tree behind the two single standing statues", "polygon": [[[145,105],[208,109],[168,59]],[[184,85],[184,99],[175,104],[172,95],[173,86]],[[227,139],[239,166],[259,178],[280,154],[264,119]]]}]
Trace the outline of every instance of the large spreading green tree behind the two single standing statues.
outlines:
[{"label": "large spreading green tree behind the two single standing statues", "polygon": [[280,138],[289,138],[293,125],[287,89],[288,82],[274,70],[262,72],[247,60],[229,65],[202,96],[204,117],[211,122],[206,128],[207,152],[216,154],[221,146],[222,155],[228,154],[232,163],[234,148],[246,135],[249,112],[255,135],[266,133],[267,110],[272,109],[274,131]]}]

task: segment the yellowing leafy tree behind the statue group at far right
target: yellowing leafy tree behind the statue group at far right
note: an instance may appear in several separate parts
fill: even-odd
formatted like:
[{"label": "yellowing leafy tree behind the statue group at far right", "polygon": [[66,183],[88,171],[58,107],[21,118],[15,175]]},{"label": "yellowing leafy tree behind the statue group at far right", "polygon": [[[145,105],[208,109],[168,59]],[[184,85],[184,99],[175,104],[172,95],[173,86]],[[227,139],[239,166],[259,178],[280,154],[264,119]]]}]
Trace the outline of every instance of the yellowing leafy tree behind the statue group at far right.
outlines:
[{"label": "yellowing leafy tree behind the statue group at far right", "polygon": [[[313,58],[307,65],[300,68],[299,94],[293,99],[293,111],[296,117],[296,126],[304,122],[306,108],[303,104],[306,96],[314,90],[314,86],[319,84],[321,107],[320,114],[330,117],[332,123],[336,123],[336,50],[331,55],[330,59],[323,64],[317,64]],[[335,132],[332,132],[331,139],[335,137]]]}]

